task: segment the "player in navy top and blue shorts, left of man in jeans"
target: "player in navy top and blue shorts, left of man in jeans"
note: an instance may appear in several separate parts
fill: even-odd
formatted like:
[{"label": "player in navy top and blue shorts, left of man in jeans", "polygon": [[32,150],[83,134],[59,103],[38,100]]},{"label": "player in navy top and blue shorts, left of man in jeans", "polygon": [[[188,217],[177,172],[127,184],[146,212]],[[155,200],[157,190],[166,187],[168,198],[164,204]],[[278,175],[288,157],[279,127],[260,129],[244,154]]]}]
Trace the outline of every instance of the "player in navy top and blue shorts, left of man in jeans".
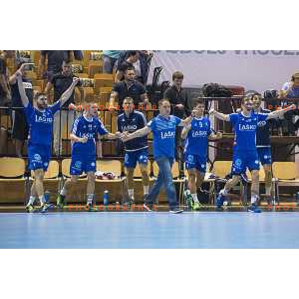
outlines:
[{"label": "player in navy top and blue shorts, left of man in jeans", "polygon": [[[123,113],[118,116],[118,132],[133,133],[148,125],[145,115],[134,110],[134,100],[127,97],[123,102]],[[134,203],[134,170],[137,162],[142,175],[144,198],[149,194],[149,146],[148,137],[143,136],[124,143],[125,145],[125,169],[127,174],[128,195],[130,204]]]}]

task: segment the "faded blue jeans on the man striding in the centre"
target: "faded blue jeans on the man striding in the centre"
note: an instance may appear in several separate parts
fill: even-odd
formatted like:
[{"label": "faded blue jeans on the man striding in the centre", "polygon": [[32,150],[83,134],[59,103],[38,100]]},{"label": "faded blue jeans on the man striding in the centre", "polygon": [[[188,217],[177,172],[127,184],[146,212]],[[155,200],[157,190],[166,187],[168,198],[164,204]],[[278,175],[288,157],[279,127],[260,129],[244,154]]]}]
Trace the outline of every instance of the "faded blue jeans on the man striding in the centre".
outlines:
[{"label": "faded blue jeans on the man striding in the centre", "polygon": [[164,185],[166,189],[169,207],[170,209],[173,209],[178,206],[175,186],[172,181],[172,173],[171,173],[173,158],[158,157],[156,158],[156,162],[159,166],[159,173],[155,183],[153,184],[153,186],[149,191],[149,195],[146,199],[146,203],[147,204],[155,203],[157,196],[160,192],[160,188],[162,187],[162,185]]}]

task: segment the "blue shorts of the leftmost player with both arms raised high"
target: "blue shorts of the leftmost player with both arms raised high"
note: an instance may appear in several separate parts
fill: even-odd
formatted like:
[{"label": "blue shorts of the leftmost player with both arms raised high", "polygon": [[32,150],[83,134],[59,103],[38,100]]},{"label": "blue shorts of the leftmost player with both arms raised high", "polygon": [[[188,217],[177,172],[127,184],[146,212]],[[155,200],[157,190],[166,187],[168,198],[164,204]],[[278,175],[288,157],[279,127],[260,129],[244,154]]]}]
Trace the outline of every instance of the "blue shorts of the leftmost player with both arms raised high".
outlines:
[{"label": "blue shorts of the leftmost player with both arms raised high", "polygon": [[43,169],[47,171],[51,158],[51,145],[49,146],[28,146],[29,170]]}]

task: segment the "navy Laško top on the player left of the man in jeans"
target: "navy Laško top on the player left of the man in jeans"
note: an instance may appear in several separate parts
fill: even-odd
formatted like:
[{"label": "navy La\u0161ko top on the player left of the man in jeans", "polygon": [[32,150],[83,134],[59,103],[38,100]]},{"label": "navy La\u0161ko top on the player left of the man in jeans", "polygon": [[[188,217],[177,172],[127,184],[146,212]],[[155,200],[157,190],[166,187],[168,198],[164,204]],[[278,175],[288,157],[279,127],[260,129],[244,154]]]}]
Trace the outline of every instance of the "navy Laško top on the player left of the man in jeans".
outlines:
[{"label": "navy La\u0161ko top on the player left of the man in jeans", "polygon": [[[127,116],[125,113],[120,114],[117,120],[117,126],[119,132],[133,133],[139,129],[147,126],[147,120],[142,112],[133,111]],[[133,140],[129,140],[124,143],[126,151],[137,151],[140,149],[148,148],[148,137],[139,137]]]}]

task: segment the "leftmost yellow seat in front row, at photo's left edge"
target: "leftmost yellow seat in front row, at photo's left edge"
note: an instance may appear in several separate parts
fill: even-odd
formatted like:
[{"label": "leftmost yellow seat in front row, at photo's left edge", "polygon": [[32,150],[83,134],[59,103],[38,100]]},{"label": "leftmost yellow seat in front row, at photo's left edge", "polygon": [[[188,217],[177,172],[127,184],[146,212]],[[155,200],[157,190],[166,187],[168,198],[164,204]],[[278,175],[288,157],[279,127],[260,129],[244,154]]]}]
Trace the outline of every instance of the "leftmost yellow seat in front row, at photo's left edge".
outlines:
[{"label": "leftmost yellow seat in front row, at photo's left edge", "polygon": [[25,161],[21,158],[0,158],[0,202],[25,203],[28,184],[24,177]]}]

